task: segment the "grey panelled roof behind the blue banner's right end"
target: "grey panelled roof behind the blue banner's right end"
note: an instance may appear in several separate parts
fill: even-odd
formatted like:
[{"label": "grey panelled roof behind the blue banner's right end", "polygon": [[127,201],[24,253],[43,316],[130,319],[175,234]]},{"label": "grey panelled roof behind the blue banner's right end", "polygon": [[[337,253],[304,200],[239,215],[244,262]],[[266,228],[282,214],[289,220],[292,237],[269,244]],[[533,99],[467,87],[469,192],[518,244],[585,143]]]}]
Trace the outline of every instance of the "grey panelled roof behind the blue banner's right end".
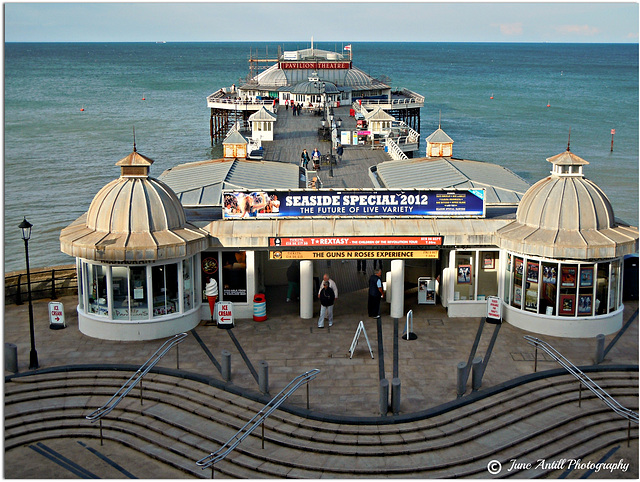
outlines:
[{"label": "grey panelled roof behind the blue banner's right end", "polygon": [[376,187],[485,189],[487,204],[516,204],[530,184],[497,164],[449,158],[388,161],[372,168]]}]

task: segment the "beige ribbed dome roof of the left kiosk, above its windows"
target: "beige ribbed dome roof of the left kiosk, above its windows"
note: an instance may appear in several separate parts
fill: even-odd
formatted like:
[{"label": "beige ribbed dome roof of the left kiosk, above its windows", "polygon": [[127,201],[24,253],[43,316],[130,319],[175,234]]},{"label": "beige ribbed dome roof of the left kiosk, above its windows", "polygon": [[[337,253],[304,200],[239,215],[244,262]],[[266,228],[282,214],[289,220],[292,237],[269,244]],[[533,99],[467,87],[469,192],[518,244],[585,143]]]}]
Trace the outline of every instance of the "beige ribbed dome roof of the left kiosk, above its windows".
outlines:
[{"label": "beige ribbed dome roof of the left kiosk, above its windows", "polygon": [[189,256],[206,248],[206,234],[187,223],[169,186],[148,177],[153,161],[135,150],[116,163],[118,179],[104,186],[89,210],[63,229],[64,253],[114,262]]}]

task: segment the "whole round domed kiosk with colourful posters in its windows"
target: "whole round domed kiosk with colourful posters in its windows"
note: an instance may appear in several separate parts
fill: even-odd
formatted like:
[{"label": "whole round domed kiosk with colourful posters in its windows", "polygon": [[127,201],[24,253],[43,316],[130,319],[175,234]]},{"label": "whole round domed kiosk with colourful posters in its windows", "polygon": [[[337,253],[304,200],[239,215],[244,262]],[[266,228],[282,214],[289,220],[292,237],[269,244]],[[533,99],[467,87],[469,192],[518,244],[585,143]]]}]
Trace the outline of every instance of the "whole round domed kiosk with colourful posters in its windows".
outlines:
[{"label": "whole round domed kiosk with colourful posters in its windows", "polygon": [[638,228],[614,219],[605,193],[569,147],[547,159],[551,176],[523,196],[516,220],[498,229],[506,251],[504,318],[535,333],[592,337],[622,327],[622,264],[638,251]]}]

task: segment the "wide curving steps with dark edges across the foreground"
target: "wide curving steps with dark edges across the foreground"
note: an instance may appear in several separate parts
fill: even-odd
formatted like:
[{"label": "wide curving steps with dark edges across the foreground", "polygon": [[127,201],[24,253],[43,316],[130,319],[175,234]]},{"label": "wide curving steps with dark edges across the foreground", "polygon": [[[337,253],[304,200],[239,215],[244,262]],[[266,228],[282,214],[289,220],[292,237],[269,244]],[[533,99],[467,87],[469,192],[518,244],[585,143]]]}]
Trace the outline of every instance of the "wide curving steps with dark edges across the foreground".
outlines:
[{"label": "wide curving steps with dark edges across the foreground", "polygon": [[[106,468],[89,469],[99,477],[209,478],[211,471],[201,470],[196,461],[217,450],[264,405],[214,386],[219,382],[159,369],[144,379],[142,404],[136,388],[105,417],[101,446],[99,427],[85,416],[130,373],[89,368],[7,378],[5,477],[51,478],[62,470],[38,450],[43,447],[55,446],[54,452],[86,467],[92,456],[83,456],[89,454],[85,444],[108,454],[111,467],[126,471],[113,475]],[[590,376],[620,403],[638,410],[637,371]],[[535,461],[589,460],[614,444],[627,446],[627,421],[585,390],[579,407],[578,390],[570,375],[543,378],[473,403],[462,398],[438,415],[411,421],[348,419],[307,412],[303,404],[283,405],[265,421],[264,448],[256,430],[215,465],[215,477],[487,478],[492,460],[502,464],[499,477],[558,477],[561,471],[536,468]],[[292,406],[296,414],[286,411]],[[636,425],[630,433],[637,453]],[[533,466],[507,471],[512,459]]]}]

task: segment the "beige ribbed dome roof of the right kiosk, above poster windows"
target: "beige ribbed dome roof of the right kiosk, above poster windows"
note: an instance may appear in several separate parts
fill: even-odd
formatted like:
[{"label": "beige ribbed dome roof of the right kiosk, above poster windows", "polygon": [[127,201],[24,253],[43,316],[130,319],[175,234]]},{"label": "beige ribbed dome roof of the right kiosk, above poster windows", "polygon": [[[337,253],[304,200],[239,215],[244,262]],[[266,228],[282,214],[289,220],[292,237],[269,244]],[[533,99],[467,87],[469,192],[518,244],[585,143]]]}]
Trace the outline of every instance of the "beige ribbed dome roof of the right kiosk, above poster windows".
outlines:
[{"label": "beige ribbed dome roof of the right kiosk, above poster windows", "polygon": [[500,247],[526,255],[605,259],[636,252],[638,229],[616,224],[606,194],[583,175],[569,148],[547,161],[551,176],[522,197],[516,220],[498,230]]}]

